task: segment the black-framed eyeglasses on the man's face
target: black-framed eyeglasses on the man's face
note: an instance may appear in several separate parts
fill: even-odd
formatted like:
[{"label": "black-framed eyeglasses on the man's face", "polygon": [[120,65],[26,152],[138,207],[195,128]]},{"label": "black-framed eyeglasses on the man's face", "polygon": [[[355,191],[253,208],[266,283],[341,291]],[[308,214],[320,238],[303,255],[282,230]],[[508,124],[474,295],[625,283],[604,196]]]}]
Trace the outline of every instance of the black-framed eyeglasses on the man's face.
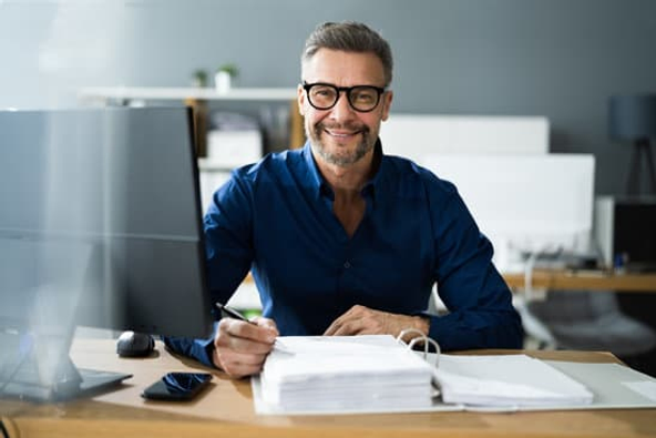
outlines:
[{"label": "black-framed eyeglasses on the man's face", "polygon": [[347,95],[351,108],[358,112],[370,112],[378,106],[385,89],[373,85],[336,86],[330,83],[303,83],[310,105],[317,110],[330,110],[337,104],[341,92]]}]

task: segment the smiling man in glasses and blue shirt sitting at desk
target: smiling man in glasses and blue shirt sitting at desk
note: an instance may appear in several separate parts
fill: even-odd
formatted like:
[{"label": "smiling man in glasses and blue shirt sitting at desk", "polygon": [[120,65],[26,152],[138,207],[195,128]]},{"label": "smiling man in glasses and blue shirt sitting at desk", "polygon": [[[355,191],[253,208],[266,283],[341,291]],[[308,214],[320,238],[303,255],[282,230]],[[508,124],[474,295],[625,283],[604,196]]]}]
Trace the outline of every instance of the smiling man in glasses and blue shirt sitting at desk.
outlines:
[{"label": "smiling man in glasses and blue shirt sitting at desk", "polygon": [[[213,299],[227,302],[250,269],[264,317],[223,318],[213,342],[168,345],[234,377],[258,373],[278,335],[414,328],[444,350],[521,348],[492,246],[455,187],[382,152],[389,44],[365,24],[321,24],[301,79],[305,147],[235,171],[205,216]],[[435,282],[442,317],[424,314]]]}]

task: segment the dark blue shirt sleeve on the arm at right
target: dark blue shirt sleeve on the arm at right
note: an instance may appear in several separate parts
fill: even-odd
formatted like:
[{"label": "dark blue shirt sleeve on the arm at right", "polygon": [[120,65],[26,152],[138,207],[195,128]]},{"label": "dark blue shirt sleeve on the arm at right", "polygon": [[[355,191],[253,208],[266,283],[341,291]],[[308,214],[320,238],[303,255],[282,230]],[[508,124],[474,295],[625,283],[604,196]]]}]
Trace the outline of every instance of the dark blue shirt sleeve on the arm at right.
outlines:
[{"label": "dark blue shirt sleeve on the arm at right", "polygon": [[444,350],[522,348],[521,318],[492,263],[492,244],[451,187],[432,197],[438,294],[449,313],[430,316],[429,336]]}]

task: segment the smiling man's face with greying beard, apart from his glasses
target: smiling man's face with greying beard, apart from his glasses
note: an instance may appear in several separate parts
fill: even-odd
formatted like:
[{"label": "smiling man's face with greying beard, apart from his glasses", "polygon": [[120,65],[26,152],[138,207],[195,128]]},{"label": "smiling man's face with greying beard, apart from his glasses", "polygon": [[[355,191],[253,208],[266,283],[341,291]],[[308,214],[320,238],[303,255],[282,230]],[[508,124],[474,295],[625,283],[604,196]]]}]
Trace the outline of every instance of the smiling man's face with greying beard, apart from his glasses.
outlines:
[{"label": "smiling man's face with greying beard, apart from his glasses", "polygon": [[[309,84],[320,82],[336,86],[385,86],[382,63],[373,53],[329,49],[320,49],[304,63],[303,80]],[[387,91],[372,111],[358,112],[342,91],[335,106],[317,110],[303,86],[298,89],[298,106],[305,116],[305,131],[312,150],[319,159],[344,167],[357,163],[373,149],[380,122],[389,115],[391,100],[392,93]]]}]

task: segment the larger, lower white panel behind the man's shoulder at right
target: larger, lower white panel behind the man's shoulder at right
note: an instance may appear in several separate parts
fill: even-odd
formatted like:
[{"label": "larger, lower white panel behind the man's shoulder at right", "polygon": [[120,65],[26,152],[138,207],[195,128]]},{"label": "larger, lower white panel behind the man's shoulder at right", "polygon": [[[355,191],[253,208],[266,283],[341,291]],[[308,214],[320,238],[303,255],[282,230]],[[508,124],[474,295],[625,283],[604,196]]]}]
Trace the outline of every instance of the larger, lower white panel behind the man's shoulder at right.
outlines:
[{"label": "larger, lower white panel behind the man's shoulder at right", "polygon": [[500,271],[522,272],[531,255],[592,252],[592,154],[433,154],[420,164],[455,184]]}]

